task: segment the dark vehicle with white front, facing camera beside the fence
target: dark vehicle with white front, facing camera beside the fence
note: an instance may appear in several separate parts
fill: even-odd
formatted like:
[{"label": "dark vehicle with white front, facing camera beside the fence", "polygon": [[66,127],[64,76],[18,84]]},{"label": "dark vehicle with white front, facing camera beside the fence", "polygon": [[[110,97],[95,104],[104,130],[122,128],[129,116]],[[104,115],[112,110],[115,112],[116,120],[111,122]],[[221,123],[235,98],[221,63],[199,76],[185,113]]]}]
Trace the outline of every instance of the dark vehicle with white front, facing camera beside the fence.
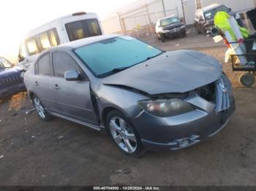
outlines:
[{"label": "dark vehicle with white front, facing camera beside the fence", "polygon": [[165,42],[166,38],[173,36],[186,36],[186,26],[179,17],[170,16],[157,20],[157,38]]}]

